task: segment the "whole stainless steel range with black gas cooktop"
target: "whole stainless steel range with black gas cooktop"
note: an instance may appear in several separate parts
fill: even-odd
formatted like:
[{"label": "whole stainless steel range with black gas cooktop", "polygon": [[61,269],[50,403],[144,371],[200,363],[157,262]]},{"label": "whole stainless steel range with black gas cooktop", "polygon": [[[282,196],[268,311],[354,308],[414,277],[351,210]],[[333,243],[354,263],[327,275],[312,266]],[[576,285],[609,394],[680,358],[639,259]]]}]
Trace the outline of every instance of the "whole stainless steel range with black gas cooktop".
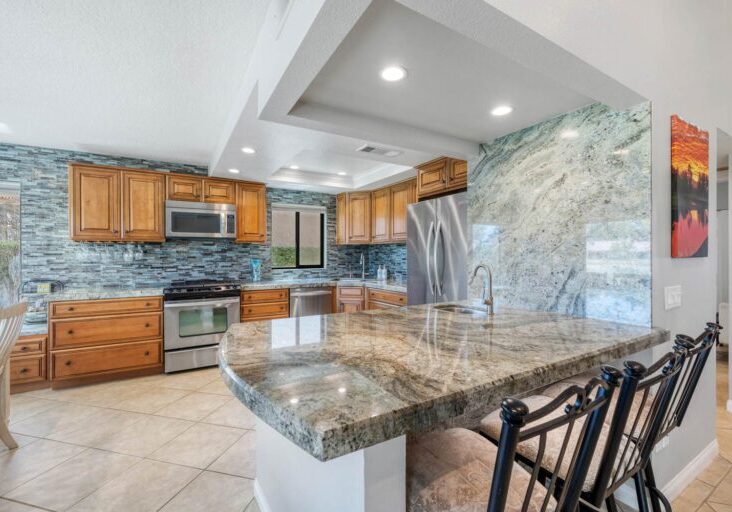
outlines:
[{"label": "whole stainless steel range with black gas cooktop", "polygon": [[216,366],[219,341],[239,322],[236,283],[181,281],[163,290],[165,373]]}]

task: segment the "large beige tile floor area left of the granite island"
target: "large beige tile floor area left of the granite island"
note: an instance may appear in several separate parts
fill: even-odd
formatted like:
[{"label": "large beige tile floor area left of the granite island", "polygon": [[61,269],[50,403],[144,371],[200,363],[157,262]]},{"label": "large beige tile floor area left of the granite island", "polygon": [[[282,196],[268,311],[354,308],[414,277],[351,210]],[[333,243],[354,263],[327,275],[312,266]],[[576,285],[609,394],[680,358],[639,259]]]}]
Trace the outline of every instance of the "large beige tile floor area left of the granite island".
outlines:
[{"label": "large beige tile floor area left of the granite island", "polygon": [[254,426],[217,368],[13,395],[0,512],[259,512]]}]

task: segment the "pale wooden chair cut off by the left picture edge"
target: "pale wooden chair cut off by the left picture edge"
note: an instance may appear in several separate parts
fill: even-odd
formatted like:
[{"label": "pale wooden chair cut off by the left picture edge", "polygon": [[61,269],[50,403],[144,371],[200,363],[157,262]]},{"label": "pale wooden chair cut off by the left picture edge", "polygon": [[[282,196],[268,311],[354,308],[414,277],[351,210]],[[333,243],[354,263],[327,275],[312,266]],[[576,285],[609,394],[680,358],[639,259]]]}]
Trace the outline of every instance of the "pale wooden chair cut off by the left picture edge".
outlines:
[{"label": "pale wooden chair cut off by the left picture edge", "polygon": [[8,449],[18,447],[8,430],[10,421],[10,352],[20,335],[28,305],[20,302],[0,309],[0,441]]}]

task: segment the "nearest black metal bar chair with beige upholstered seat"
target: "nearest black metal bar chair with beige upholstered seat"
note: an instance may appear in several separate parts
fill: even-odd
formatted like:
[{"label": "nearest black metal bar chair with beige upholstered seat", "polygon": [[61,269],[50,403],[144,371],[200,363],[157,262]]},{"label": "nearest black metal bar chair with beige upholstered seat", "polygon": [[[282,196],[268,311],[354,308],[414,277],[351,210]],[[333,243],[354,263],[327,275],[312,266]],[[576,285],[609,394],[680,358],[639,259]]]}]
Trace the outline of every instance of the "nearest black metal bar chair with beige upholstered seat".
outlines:
[{"label": "nearest black metal bar chair with beige upholstered seat", "polygon": [[[503,400],[496,444],[463,428],[411,440],[407,509],[574,512],[621,377],[618,370],[607,367],[602,378],[570,386],[537,407],[513,398]],[[515,462],[518,447],[542,460],[550,437],[562,442],[549,471],[543,471],[541,464],[527,470]]]}]

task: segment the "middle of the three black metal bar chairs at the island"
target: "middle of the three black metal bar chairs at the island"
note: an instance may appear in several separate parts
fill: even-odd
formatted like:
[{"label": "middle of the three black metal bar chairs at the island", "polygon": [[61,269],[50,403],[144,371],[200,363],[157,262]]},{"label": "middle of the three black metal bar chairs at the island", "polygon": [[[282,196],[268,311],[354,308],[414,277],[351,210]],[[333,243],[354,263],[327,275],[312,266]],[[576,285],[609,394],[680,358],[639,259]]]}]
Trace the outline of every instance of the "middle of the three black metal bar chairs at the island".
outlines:
[{"label": "middle of the three black metal bar chairs at the island", "polygon": [[[587,509],[599,510],[603,502],[610,512],[617,510],[614,494],[625,482],[633,479],[641,512],[648,511],[643,470],[656,442],[658,432],[667,418],[670,403],[684,352],[669,352],[649,368],[627,361],[617,393],[611,398],[608,415],[601,430],[598,456],[590,464],[581,489],[580,504]],[[563,388],[557,386],[556,397],[576,385],[574,377]],[[551,390],[548,390],[551,392]],[[534,395],[532,400],[555,400],[551,395]],[[529,399],[527,398],[527,400]],[[491,413],[481,422],[481,432],[492,440],[497,439],[496,414]],[[517,450],[518,460],[530,466],[541,465],[547,471],[554,464],[554,456],[561,439],[550,438],[549,448],[543,460],[526,450]],[[563,475],[560,473],[560,479]],[[652,489],[651,493],[658,493]],[[663,501],[665,498],[660,497]],[[667,503],[667,501],[665,502]],[[670,509],[669,509],[670,510]]]}]

